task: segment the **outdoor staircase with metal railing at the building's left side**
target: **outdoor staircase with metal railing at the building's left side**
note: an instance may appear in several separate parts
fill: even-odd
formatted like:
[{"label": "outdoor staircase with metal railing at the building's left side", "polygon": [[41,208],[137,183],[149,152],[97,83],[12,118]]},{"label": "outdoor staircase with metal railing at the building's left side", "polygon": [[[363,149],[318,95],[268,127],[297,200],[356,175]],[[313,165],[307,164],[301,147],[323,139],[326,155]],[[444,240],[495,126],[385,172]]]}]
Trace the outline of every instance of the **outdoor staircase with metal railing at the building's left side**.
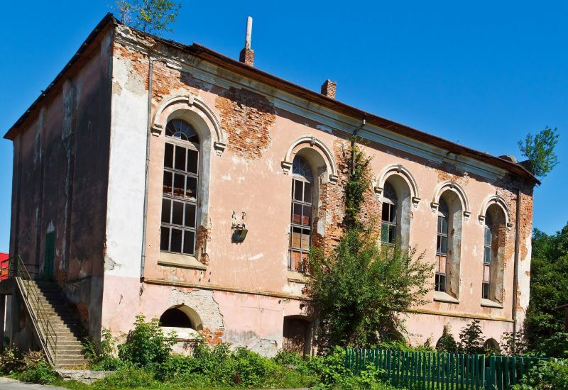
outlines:
[{"label": "outdoor staircase with metal railing at the building's left side", "polygon": [[58,284],[35,280],[19,256],[11,259],[9,267],[9,277],[16,281],[23,306],[48,362],[56,367],[88,364],[82,353],[82,326],[74,318]]}]

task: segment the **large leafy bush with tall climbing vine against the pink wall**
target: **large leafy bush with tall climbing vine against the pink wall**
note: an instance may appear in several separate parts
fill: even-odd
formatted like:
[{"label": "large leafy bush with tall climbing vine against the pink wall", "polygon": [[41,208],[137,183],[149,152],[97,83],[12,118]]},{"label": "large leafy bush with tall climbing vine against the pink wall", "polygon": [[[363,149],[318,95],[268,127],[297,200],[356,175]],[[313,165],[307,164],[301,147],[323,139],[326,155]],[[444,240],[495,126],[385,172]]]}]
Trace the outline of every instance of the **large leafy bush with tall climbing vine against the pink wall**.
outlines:
[{"label": "large leafy bush with tall climbing vine against the pink wall", "polygon": [[[381,247],[378,233],[359,221],[364,192],[371,188],[368,157],[351,145],[346,186],[345,232],[329,255],[312,248],[308,307],[320,320],[322,347],[377,345],[403,327],[399,314],[425,302],[432,265],[415,250]],[[375,224],[368,223],[369,226]]]}]

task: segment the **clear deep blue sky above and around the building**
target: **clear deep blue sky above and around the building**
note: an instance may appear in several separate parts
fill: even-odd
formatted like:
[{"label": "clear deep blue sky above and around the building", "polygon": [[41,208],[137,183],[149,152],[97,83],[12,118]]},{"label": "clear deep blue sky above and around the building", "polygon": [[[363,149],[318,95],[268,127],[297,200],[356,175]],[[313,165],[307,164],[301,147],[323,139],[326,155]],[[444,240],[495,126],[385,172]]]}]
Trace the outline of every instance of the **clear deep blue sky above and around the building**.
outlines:
[{"label": "clear deep blue sky above and around the building", "polygon": [[[567,1],[181,1],[174,33],[230,57],[253,16],[255,66],[454,142],[520,157],[557,126],[560,164],[535,190],[534,225],[568,222]],[[0,131],[75,54],[112,0],[9,1],[0,27]],[[12,145],[0,140],[0,252],[9,249]]]}]

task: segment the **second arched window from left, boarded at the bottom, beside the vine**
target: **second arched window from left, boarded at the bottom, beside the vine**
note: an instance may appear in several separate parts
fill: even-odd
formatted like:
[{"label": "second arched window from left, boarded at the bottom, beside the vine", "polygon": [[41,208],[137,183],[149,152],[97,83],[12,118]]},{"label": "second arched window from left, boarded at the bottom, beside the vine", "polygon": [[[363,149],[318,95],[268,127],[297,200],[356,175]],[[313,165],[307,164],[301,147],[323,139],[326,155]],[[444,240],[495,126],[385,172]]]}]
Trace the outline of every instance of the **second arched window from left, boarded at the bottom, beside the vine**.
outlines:
[{"label": "second arched window from left, boarded at the bottom, beside the vine", "polygon": [[304,157],[294,157],[292,164],[292,212],[290,221],[290,247],[288,269],[297,271],[310,250],[314,174]]}]

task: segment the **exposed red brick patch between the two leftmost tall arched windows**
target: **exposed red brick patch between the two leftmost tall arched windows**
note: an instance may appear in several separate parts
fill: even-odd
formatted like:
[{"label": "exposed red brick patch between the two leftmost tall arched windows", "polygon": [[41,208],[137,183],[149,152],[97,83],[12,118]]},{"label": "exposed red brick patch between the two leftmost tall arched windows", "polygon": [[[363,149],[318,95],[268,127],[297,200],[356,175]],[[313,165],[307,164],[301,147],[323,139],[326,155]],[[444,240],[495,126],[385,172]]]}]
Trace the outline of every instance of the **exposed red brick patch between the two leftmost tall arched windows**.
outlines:
[{"label": "exposed red brick patch between the two leftmost tall arched windows", "polygon": [[276,121],[271,101],[249,89],[231,87],[215,103],[229,135],[229,150],[249,159],[262,157],[263,150],[271,144],[270,128]]}]

